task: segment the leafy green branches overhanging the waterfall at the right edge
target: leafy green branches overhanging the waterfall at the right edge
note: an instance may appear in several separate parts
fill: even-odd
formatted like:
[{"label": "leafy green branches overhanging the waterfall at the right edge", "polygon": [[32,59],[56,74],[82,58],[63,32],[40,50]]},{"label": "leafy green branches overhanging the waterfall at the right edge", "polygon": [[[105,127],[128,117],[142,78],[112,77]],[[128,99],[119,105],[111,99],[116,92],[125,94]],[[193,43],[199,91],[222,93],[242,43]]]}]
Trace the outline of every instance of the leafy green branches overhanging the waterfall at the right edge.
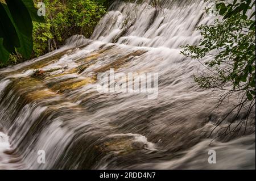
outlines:
[{"label": "leafy green branches overhanging the waterfall at the right edge", "polygon": [[222,18],[197,27],[203,39],[199,45],[182,46],[181,54],[197,60],[211,57],[205,63],[208,71],[195,75],[195,81],[205,89],[224,90],[220,103],[238,93],[241,102],[232,111],[246,108],[249,116],[255,104],[255,1],[210,2]]}]

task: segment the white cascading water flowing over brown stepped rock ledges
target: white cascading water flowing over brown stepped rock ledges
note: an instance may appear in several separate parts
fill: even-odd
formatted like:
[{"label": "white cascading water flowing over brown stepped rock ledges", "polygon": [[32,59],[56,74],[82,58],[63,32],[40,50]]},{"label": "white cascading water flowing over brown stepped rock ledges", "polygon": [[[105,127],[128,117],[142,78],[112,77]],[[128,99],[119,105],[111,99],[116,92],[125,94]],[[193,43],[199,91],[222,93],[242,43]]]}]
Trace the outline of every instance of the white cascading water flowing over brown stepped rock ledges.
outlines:
[{"label": "white cascading water flowing over brown stepped rock ledges", "polygon": [[[214,109],[215,94],[193,82],[203,67],[180,54],[180,45],[200,40],[196,26],[213,22],[204,7],[115,1],[90,40],[74,36],[55,52],[1,69],[0,169],[255,169],[255,112],[245,136],[209,145],[216,133],[205,131],[237,98]],[[97,74],[110,69],[158,73],[157,98],[97,91]],[[208,163],[210,149],[217,164]]]}]

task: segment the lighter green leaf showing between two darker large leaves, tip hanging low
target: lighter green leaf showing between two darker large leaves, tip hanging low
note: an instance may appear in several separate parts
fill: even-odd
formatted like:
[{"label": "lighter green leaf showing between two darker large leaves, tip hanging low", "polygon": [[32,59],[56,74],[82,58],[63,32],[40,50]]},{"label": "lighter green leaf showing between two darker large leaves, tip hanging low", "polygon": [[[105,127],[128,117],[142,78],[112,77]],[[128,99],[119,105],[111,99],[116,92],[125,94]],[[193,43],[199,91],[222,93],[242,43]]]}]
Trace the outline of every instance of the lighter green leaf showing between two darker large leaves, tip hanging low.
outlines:
[{"label": "lighter green leaf showing between two darker large leaves, tip hanging low", "polygon": [[[9,16],[11,16],[11,13],[10,13],[8,7],[6,5],[3,5],[3,7],[5,8],[7,14]],[[11,22],[13,22],[13,24],[14,24],[16,32],[18,33],[19,42],[20,42],[20,47],[16,48],[16,50],[18,50],[18,52],[20,54],[22,54],[22,56],[24,58],[28,59],[31,56],[32,48],[33,48],[32,34],[30,34],[28,36],[24,35],[22,32],[20,32],[20,30],[18,29],[18,27],[14,23],[14,19],[13,18],[10,18],[10,19],[11,19]]]}]

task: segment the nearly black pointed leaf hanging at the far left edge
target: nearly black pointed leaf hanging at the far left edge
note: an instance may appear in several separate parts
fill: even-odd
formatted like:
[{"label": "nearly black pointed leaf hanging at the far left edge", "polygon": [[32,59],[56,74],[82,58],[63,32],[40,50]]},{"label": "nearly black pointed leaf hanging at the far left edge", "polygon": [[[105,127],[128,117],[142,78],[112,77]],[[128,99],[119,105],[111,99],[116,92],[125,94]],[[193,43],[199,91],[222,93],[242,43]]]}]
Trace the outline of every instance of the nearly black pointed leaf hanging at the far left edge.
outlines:
[{"label": "nearly black pointed leaf hanging at the far left edge", "polygon": [[0,3],[0,37],[3,38],[1,49],[4,47],[8,52],[14,53],[15,47],[20,47],[18,34],[2,3]]}]

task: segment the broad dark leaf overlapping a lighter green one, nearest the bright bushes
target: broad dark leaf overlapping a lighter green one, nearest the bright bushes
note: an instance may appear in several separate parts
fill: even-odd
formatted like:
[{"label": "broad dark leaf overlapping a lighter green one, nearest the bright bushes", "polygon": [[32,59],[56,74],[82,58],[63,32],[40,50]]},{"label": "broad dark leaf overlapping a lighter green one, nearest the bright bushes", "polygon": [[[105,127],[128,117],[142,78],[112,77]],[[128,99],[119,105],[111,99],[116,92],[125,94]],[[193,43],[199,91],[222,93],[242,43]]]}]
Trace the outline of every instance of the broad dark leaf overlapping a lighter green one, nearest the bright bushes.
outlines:
[{"label": "broad dark leaf overlapping a lighter green one, nearest the bright bushes", "polygon": [[24,35],[30,36],[32,34],[33,25],[27,7],[21,0],[6,0],[6,3],[16,27]]}]

